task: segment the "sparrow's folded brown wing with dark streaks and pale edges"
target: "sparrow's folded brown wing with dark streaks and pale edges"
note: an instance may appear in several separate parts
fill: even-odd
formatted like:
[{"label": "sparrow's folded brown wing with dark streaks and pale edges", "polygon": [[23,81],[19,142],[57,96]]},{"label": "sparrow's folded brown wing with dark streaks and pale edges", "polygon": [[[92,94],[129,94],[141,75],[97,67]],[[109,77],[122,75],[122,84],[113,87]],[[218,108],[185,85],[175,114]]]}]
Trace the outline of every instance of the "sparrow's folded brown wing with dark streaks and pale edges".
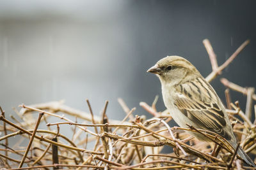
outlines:
[{"label": "sparrow's folded brown wing with dark streaks and pale edges", "polygon": [[180,84],[176,92],[174,104],[186,117],[201,129],[216,132],[226,139],[231,138],[223,129],[227,125],[224,107],[204,78]]}]

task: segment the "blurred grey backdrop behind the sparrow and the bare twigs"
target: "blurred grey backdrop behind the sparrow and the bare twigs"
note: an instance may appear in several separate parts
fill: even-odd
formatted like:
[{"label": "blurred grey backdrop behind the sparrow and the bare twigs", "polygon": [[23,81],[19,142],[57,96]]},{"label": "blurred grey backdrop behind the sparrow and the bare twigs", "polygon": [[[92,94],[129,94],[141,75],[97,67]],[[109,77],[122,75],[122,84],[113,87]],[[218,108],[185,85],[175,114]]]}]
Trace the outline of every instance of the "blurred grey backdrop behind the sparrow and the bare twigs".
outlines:
[{"label": "blurred grey backdrop behind the sparrow and the bare twigs", "polygon": [[[65,99],[95,115],[109,100],[108,117],[122,120],[122,97],[134,114],[148,115],[140,101],[159,95],[158,78],[146,73],[157,60],[180,55],[203,76],[211,64],[202,44],[208,38],[222,64],[241,43],[251,43],[211,84],[225,101],[225,77],[256,87],[256,1],[1,1],[0,106]],[[246,97],[231,92],[245,110]]]}]

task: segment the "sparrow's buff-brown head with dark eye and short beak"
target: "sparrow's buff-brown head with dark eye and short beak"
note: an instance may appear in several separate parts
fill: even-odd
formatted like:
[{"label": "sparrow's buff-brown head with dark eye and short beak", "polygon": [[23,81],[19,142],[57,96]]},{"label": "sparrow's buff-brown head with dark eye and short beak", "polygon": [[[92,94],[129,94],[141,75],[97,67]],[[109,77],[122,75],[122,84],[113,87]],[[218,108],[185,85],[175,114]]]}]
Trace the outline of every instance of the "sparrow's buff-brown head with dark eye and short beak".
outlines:
[{"label": "sparrow's buff-brown head with dark eye and short beak", "polygon": [[197,77],[198,74],[200,75],[193,64],[175,55],[167,56],[159,60],[153,67],[148,69],[147,72],[157,74],[161,83],[167,82],[173,85],[182,81],[191,80]]}]

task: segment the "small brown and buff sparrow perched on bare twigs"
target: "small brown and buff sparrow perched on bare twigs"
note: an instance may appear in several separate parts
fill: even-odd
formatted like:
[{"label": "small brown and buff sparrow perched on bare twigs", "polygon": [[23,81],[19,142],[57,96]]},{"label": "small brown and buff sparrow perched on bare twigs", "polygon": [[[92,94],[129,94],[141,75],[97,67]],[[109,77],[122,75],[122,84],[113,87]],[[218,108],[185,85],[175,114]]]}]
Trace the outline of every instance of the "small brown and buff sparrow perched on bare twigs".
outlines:
[{"label": "small brown and buff sparrow perched on bare twigs", "polygon": [[[177,55],[167,56],[150,67],[161,81],[164,105],[180,127],[192,125],[196,129],[215,132],[233,146],[237,140],[225,107],[212,86],[191,62]],[[204,135],[190,132],[201,141],[209,141]],[[237,154],[249,166],[256,167],[241,146]]]}]

